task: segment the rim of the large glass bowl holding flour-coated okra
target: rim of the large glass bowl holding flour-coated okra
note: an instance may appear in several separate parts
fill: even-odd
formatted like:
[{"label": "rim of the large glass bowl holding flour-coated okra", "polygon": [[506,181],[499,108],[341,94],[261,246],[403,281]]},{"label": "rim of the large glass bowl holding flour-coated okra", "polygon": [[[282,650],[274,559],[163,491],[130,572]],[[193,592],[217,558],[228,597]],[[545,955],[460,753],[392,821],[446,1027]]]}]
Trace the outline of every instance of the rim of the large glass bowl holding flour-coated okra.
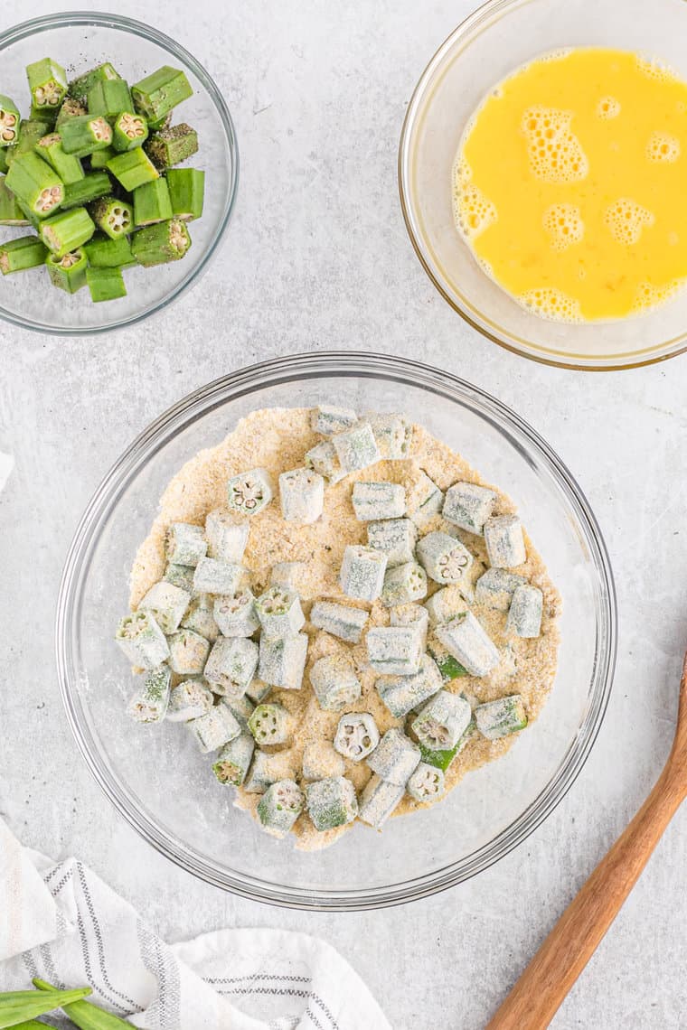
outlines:
[{"label": "rim of the large glass bowl holding flour-coated okra", "polygon": [[[256,387],[333,375],[381,378],[387,382],[420,385],[448,400],[477,405],[481,414],[491,414],[500,425],[506,421],[511,432],[524,438],[538,452],[549,474],[565,493],[598,575],[602,604],[597,614],[589,710],[569,744],[556,774],[530,804],[496,836],[459,862],[384,888],[321,892],[284,887],[245,873],[228,874],[211,859],[180,845],[177,838],[149,819],[129,797],[127,788],[101,753],[90,746],[89,727],[81,722],[77,711],[78,671],[74,661],[74,646],[81,586],[89,574],[100,526],[148,458],[164,448],[180,430],[193,424],[205,413],[236,398],[250,394]],[[87,765],[118,813],[158,852],[201,880],[253,901],[312,911],[362,911],[417,900],[470,879],[521,844],[562,800],[586,762],[609,702],[616,646],[616,591],[604,537],[584,493],[549,444],[501,401],[451,373],[403,357],[360,351],[298,353],[248,366],[201,386],[156,418],[111,466],[87,505],[65,561],[56,615],[56,658],[67,720]]]}]

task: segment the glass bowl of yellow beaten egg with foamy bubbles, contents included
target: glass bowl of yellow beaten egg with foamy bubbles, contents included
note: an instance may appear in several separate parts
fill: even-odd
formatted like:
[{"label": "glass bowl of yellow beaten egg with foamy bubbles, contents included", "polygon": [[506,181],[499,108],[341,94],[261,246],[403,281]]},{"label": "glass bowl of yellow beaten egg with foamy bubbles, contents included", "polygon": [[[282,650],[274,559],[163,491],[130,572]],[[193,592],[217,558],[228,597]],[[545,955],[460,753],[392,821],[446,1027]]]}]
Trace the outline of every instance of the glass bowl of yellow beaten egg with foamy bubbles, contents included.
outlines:
[{"label": "glass bowl of yellow beaten egg with foamy bubbles, contents included", "polygon": [[687,3],[490,0],[411,99],[420,262],[484,336],[609,370],[687,349]]}]

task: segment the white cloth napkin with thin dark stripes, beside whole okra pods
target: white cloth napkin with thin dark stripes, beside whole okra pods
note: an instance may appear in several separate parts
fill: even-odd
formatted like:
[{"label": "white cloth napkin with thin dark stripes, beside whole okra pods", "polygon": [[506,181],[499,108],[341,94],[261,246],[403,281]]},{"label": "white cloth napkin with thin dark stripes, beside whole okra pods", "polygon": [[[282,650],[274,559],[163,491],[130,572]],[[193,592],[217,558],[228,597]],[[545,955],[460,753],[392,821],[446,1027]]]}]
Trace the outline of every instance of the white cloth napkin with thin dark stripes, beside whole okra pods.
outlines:
[{"label": "white cloth napkin with thin dark stripes, beside whole okra pods", "polygon": [[88,984],[147,1030],[391,1030],[323,940],[241,929],[166,945],[88,866],[23,848],[0,819],[0,989],[32,976]]}]

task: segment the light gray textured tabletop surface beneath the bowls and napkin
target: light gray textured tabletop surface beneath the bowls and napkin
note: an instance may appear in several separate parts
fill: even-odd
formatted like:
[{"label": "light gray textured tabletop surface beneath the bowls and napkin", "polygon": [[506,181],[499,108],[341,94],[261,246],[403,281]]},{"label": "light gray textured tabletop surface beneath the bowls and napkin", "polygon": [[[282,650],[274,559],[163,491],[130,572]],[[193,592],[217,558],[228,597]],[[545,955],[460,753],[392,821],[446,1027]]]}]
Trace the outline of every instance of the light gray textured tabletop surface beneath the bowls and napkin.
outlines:
[{"label": "light gray textured tabletop surface beneath the bowls and napkin", "polygon": [[[55,857],[82,857],[169,940],[233,925],[325,937],[367,977],[398,1030],[484,1025],[657,776],[687,644],[687,358],[603,375],[526,363],[453,314],[406,237],[396,183],[401,122],[425,61],[471,6],[119,0],[118,11],[185,42],[224,90],[242,160],[229,237],[196,289],[142,328],[62,340],[0,327],[0,450],[16,457],[0,496],[0,776],[12,826]],[[29,12],[5,0],[3,27],[57,9],[38,2]],[[528,418],[598,516],[621,620],[605,725],[548,822],[471,883],[350,916],[237,900],[156,856],[77,755],[53,660],[69,540],[132,437],[232,369],[334,347],[419,354]],[[687,1025],[686,840],[683,812],[556,1030]]]}]

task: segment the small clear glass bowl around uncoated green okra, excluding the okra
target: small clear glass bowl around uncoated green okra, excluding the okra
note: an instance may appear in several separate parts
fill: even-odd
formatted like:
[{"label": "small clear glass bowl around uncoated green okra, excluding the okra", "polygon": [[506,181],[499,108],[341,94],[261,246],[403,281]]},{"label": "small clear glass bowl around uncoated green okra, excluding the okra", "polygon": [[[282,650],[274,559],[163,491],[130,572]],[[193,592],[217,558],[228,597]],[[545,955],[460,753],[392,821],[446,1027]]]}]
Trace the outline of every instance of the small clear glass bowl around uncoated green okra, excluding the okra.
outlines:
[{"label": "small clear glass bowl around uncoated green okra, excluding the okra", "polygon": [[[127,297],[93,304],[88,288],[74,296],[55,289],[42,269],[4,276],[0,280],[0,317],[23,329],[60,335],[103,333],[142,321],[166,307],[196,282],[216,252],[236,199],[239,153],[229,108],[206,70],[183,46],[142,22],[118,14],[70,11],[16,25],[0,35],[3,92],[28,112],[26,66],[49,55],[69,78],[103,61],[112,61],[129,82],[164,64],[182,68],[194,89],[174,121],[198,130],[198,153],[188,166],[204,168],[203,217],[190,232],[187,254],[154,269],[125,270]],[[177,112],[175,111],[175,114]],[[2,229],[2,238],[32,230]]]}]

